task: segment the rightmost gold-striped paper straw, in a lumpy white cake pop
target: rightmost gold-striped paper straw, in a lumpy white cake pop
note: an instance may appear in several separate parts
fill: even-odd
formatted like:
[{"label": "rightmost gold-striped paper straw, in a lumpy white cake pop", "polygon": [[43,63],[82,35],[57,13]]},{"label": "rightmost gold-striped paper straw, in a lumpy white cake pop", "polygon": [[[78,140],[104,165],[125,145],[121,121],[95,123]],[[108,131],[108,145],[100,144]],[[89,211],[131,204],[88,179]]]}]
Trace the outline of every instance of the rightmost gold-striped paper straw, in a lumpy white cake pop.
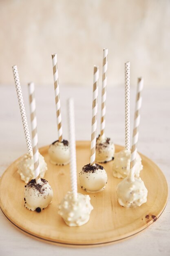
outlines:
[{"label": "rightmost gold-striped paper straw, in a lumpy white cake pop", "polygon": [[135,178],[135,160],[137,155],[137,141],[139,137],[140,109],[141,109],[141,103],[142,103],[141,91],[143,89],[143,86],[144,86],[144,80],[142,78],[138,78],[133,137],[132,137],[132,150],[131,150],[131,157],[130,157],[129,178],[131,180],[134,180]]}]

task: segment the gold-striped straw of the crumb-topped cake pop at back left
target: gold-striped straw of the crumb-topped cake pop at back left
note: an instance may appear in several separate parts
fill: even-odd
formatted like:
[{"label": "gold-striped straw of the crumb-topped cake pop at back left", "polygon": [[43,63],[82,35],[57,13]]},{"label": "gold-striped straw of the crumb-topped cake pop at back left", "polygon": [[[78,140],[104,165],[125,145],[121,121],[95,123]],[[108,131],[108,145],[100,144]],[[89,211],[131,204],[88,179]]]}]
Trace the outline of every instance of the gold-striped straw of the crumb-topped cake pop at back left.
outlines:
[{"label": "gold-striped straw of the crumb-topped cake pop at back left", "polygon": [[56,115],[57,115],[58,140],[61,142],[62,141],[62,115],[61,115],[61,108],[60,108],[57,54],[52,54],[52,62],[53,62],[53,76],[54,76],[55,107],[56,107]]}]

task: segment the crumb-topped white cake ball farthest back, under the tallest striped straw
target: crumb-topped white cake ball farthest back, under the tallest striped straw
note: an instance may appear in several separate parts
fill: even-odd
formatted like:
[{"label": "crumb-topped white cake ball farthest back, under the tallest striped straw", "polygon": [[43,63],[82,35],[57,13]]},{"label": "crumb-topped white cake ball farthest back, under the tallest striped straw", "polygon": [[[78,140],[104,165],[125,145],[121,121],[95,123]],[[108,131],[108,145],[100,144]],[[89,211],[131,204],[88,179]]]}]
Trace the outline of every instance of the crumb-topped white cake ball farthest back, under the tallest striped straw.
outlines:
[{"label": "crumb-topped white cake ball farthest back, under the tallest striped straw", "polygon": [[104,163],[113,159],[115,145],[110,138],[99,136],[96,140],[96,162]]}]

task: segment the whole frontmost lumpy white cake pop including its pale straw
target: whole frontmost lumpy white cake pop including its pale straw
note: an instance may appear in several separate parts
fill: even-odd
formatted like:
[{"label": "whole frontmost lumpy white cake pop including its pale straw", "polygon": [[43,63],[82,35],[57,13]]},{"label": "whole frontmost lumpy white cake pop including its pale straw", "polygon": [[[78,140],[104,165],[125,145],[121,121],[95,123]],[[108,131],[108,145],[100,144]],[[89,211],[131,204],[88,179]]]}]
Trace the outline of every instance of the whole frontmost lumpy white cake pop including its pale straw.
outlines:
[{"label": "whole frontmost lumpy white cake pop including its pale straw", "polygon": [[70,134],[70,173],[71,173],[71,192],[68,191],[58,206],[58,213],[70,227],[84,225],[90,218],[93,210],[89,195],[77,193],[77,168],[75,150],[75,124],[74,124],[74,105],[73,99],[68,100],[68,120]]}]

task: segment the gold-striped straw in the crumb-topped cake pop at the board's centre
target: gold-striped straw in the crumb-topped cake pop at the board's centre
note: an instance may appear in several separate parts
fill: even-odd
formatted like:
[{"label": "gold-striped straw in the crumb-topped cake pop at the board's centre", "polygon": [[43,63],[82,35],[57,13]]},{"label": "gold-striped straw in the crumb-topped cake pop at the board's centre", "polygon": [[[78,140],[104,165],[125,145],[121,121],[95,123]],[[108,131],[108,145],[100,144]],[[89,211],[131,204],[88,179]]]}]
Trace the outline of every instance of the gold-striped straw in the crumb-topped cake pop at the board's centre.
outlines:
[{"label": "gold-striped straw in the crumb-topped cake pop at the board's centre", "polygon": [[98,80],[99,80],[99,67],[98,66],[94,66],[92,126],[91,126],[91,165],[95,163],[95,156],[96,156]]}]

